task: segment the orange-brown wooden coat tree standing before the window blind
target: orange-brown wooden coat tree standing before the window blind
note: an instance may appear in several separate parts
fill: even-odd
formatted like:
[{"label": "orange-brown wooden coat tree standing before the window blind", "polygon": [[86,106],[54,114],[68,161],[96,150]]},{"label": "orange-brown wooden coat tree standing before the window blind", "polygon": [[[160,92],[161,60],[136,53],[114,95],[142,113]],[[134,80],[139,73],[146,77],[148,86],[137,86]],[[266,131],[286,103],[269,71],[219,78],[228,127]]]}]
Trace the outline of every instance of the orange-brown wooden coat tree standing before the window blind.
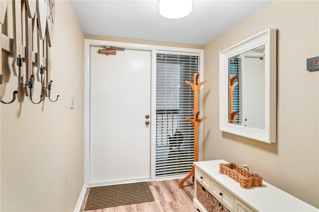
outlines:
[{"label": "orange-brown wooden coat tree standing before the window blind", "polygon": [[[206,83],[206,80],[204,80],[203,82],[198,83],[198,76],[199,73],[194,73],[193,75],[193,80],[194,83],[191,83],[189,81],[185,81],[187,84],[189,84],[191,86],[191,88],[194,91],[194,110],[192,110],[193,115],[194,115],[194,119],[190,119],[188,117],[185,117],[188,121],[191,122],[192,126],[194,127],[194,162],[198,161],[198,127],[200,125],[200,123],[206,119],[206,117],[203,117],[201,119],[198,119],[198,115],[199,115],[199,111],[198,111],[198,91],[199,88],[202,84]],[[194,182],[194,165],[191,167],[191,170],[189,172],[189,174],[184,177],[180,182],[179,182],[179,188],[182,189],[184,186],[184,182],[189,179],[190,177],[192,177],[192,181]]]}]

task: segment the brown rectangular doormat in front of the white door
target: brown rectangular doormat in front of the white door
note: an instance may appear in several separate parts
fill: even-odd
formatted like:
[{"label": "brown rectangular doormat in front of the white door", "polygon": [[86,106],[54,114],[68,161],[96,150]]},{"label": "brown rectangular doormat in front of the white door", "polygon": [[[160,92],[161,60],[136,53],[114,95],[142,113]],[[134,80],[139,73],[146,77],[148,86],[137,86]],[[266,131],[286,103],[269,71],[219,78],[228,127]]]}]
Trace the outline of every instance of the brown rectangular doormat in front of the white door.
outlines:
[{"label": "brown rectangular doormat in front of the white door", "polygon": [[84,211],[154,201],[147,182],[90,188]]}]

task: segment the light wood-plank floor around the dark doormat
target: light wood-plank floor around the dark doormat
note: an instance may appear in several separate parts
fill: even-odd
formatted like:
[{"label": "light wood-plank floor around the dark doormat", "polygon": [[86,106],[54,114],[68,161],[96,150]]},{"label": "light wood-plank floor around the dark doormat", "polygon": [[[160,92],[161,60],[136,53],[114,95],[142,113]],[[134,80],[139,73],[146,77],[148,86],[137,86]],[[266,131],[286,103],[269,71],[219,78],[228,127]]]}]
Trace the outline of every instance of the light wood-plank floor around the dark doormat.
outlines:
[{"label": "light wood-plank floor around the dark doormat", "polygon": [[[119,206],[86,212],[198,212],[193,207],[194,183],[190,179],[184,182],[184,188],[179,189],[179,180],[148,182],[154,202]],[[89,189],[86,190],[80,212],[83,212]]]}]

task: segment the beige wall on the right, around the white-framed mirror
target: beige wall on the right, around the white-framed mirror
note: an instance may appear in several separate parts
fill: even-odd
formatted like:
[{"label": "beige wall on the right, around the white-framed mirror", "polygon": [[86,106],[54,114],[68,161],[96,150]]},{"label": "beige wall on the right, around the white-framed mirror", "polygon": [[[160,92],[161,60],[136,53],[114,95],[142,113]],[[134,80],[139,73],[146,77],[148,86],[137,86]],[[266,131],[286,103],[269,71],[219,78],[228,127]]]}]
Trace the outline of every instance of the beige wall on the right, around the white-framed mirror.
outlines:
[{"label": "beige wall on the right, around the white-framed mirror", "polygon": [[[248,164],[253,172],[319,208],[319,1],[274,1],[204,47],[203,159]],[[277,143],[219,131],[218,53],[266,28],[278,29]]]}]

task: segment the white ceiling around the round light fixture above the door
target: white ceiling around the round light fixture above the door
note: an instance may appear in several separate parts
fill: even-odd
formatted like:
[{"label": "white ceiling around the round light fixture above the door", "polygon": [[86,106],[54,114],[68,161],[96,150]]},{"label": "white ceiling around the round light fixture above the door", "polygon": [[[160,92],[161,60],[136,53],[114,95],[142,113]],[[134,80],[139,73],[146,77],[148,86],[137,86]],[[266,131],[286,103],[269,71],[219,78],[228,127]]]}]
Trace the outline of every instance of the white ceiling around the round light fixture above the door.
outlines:
[{"label": "white ceiling around the round light fixture above the door", "polygon": [[85,35],[205,45],[272,0],[193,0],[192,12],[164,18],[159,0],[70,0]]}]

